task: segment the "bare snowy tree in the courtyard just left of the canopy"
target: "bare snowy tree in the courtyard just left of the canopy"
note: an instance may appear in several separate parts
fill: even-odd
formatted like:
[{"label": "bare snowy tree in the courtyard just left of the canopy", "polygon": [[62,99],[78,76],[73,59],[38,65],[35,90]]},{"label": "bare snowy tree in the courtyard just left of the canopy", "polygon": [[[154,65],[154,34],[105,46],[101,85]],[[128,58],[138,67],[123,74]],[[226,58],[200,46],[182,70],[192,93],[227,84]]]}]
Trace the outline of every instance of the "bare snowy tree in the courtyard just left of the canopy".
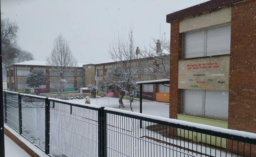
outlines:
[{"label": "bare snowy tree in the courtyard just left of the canopy", "polygon": [[[141,80],[140,71],[143,69],[138,62],[140,55],[136,55],[135,52],[132,27],[129,30],[128,37],[125,34],[119,35],[118,33],[118,36],[114,38],[109,47],[109,56],[116,61],[121,70],[116,70],[117,73],[113,76],[113,79],[106,80],[109,80],[110,85],[119,88],[121,99],[124,95],[129,97],[132,110],[133,97],[135,92],[139,90],[139,86],[135,82]],[[123,105],[122,101],[119,102]]]}]

